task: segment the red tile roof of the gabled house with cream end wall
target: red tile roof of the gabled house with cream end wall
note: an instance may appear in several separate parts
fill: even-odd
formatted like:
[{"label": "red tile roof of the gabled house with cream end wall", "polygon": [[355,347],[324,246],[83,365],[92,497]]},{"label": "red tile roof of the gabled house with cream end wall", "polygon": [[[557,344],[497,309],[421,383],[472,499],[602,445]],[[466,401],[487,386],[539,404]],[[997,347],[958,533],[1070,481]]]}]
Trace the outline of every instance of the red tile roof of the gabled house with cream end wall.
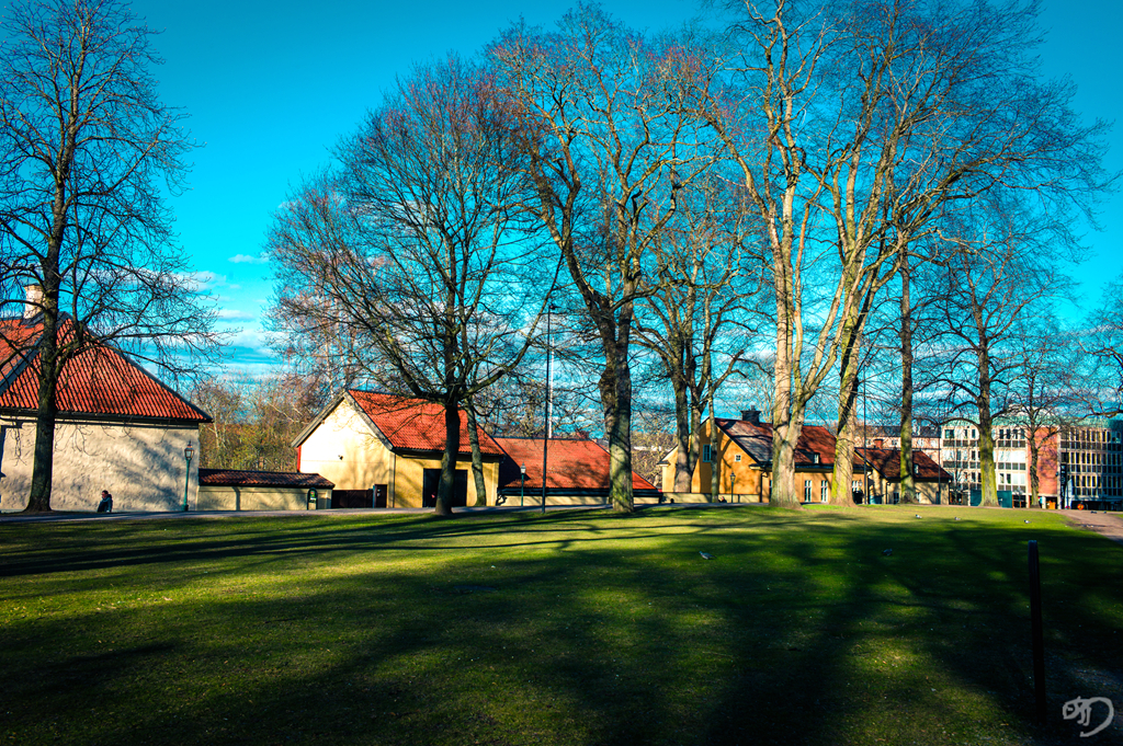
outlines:
[{"label": "red tile roof of the gabled house with cream end wall", "polygon": [[[349,389],[347,394],[354,398],[393,448],[409,451],[445,450],[445,405],[358,389]],[[460,449],[458,453],[471,453],[468,417],[463,409],[459,414]],[[482,454],[503,455],[503,449],[492,440],[491,435],[478,426],[476,432],[480,436],[480,452]]]}]

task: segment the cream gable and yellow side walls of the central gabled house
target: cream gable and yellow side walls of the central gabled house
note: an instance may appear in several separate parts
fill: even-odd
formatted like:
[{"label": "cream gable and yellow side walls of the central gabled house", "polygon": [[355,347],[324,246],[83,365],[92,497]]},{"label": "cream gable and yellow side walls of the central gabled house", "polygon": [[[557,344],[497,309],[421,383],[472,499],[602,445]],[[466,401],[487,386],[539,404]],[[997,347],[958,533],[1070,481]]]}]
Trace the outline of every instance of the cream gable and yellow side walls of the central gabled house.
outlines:
[{"label": "cream gable and yellow side walls of the central gabled house", "polygon": [[[457,469],[468,471],[468,505],[476,500],[472,460],[457,461]],[[421,487],[426,469],[440,469],[440,459],[398,455],[371,431],[366,418],[344,398],[312,431],[300,446],[298,469],[318,473],[336,485],[336,489],[371,489],[387,485],[390,507],[421,507]],[[484,461],[484,485],[487,505],[495,504],[499,462]]]}]

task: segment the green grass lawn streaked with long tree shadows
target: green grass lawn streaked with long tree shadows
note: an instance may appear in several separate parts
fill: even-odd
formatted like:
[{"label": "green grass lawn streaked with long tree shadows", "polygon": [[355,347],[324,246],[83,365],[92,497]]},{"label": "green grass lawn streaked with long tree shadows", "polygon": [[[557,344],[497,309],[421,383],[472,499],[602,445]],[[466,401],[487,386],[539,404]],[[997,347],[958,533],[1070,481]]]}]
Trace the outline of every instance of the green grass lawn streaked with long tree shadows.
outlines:
[{"label": "green grass lawn streaked with long tree shadows", "polygon": [[0,525],[0,744],[1121,743],[1060,717],[1123,710],[1121,568],[1038,510]]}]

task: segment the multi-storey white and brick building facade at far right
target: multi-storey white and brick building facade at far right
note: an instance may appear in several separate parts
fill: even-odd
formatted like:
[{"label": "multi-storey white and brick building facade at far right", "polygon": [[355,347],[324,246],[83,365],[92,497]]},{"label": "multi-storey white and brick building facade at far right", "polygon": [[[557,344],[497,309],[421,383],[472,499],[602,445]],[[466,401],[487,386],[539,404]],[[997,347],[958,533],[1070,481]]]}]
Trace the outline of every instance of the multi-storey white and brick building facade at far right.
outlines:
[{"label": "multi-storey white and brick building facade at far right", "polygon": [[[964,421],[942,427],[941,464],[951,475],[953,494],[974,501],[982,492],[978,427]],[[1025,507],[1031,492],[1032,458],[1024,421],[994,425],[994,461],[999,500]],[[1049,507],[1079,504],[1119,508],[1123,501],[1123,421],[1084,420],[1062,430],[1039,427],[1038,495]]]}]

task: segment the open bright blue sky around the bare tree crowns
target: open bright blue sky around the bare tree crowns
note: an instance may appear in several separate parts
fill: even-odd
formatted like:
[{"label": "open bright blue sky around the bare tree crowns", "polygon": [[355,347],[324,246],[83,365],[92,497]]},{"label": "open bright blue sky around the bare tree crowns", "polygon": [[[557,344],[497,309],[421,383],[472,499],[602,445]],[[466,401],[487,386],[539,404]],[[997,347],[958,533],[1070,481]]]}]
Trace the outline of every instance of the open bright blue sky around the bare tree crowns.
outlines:
[{"label": "open bright blue sky around the bare tree crowns", "polygon": [[[240,329],[225,362],[262,372],[272,358],[262,316],[272,294],[261,258],[265,232],[290,185],[329,160],[395,77],[417,63],[457,52],[468,56],[520,16],[551,24],[569,2],[293,2],[141,0],[134,10],[162,29],[154,46],[163,100],[190,113],[204,147],[193,153],[189,191],[172,201],[181,242],[218,298],[222,324]],[[695,12],[688,0],[618,0],[605,9],[637,28],[676,26]],[[263,11],[263,9],[265,9]],[[1116,36],[1123,3],[1056,0],[1041,17],[1050,76],[1071,76],[1077,109],[1120,122],[1106,165],[1123,169],[1123,73]],[[1078,268],[1090,303],[1123,271],[1123,195],[1102,211],[1104,230],[1088,233],[1092,256]]]}]

